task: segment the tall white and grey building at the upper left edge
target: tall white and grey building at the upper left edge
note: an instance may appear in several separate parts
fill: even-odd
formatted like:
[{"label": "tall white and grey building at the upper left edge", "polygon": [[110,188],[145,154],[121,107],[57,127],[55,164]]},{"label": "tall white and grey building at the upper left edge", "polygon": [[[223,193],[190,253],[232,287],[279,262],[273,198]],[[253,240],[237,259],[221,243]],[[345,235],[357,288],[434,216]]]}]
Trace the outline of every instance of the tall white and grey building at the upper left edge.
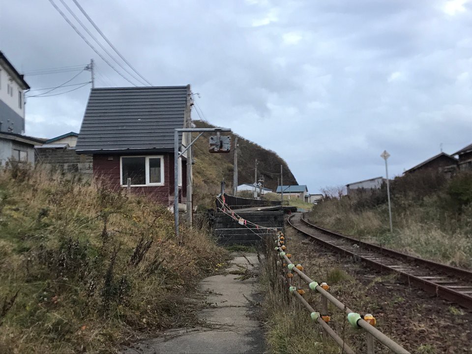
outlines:
[{"label": "tall white and grey building at the upper left edge", "polygon": [[0,132],[25,132],[25,90],[28,89],[23,75],[0,51]]}]

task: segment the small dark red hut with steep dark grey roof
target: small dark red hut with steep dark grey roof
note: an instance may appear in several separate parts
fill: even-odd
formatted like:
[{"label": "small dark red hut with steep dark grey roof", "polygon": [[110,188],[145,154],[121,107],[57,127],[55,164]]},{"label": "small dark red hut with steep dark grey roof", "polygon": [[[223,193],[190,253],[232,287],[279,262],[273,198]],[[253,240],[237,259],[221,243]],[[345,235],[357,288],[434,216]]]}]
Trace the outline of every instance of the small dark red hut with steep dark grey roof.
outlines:
[{"label": "small dark red hut with steep dark grey roof", "polygon": [[[93,176],[156,202],[174,200],[174,129],[191,122],[190,86],[92,89],[75,151],[92,156]],[[186,145],[179,136],[179,148]],[[179,158],[179,201],[186,201],[186,157]]]}]

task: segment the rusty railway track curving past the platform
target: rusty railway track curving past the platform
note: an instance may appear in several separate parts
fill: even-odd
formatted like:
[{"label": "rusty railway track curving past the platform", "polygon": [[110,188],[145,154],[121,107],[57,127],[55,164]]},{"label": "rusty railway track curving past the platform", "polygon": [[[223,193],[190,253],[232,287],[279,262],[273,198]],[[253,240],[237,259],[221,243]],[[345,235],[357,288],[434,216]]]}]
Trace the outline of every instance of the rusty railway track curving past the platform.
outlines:
[{"label": "rusty railway track curving past the platform", "polygon": [[410,284],[472,310],[472,272],[469,270],[427,261],[325,230],[305,220],[301,213],[290,216],[288,222],[302,234],[337,252],[399,273]]}]

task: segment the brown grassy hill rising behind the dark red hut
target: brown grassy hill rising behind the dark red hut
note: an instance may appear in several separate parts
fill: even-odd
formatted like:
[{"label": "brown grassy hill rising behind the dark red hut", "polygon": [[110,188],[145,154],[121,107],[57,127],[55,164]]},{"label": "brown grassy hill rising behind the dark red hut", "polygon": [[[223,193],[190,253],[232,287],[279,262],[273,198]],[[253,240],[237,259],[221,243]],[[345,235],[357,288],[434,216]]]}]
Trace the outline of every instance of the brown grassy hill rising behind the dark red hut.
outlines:
[{"label": "brown grassy hill rising behind the dark red hut", "polygon": [[[207,122],[194,121],[199,128],[214,128]],[[228,135],[227,133],[224,133]],[[194,134],[195,135],[195,134]],[[196,205],[207,205],[209,196],[220,191],[220,182],[224,178],[226,190],[233,190],[233,144],[236,134],[231,135],[232,151],[230,153],[209,153],[208,137],[214,133],[205,133],[197,142],[194,148],[195,165],[194,176],[194,201]],[[238,137],[238,160],[237,173],[238,184],[254,182],[254,162],[259,161],[258,177],[264,177],[264,186],[275,190],[277,188],[277,178],[280,177],[280,165],[283,165],[284,184],[298,184],[294,175],[290,171],[287,163],[277,153],[267,150],[247,139]],[[195,137],[194,137],[195,138]]]}]

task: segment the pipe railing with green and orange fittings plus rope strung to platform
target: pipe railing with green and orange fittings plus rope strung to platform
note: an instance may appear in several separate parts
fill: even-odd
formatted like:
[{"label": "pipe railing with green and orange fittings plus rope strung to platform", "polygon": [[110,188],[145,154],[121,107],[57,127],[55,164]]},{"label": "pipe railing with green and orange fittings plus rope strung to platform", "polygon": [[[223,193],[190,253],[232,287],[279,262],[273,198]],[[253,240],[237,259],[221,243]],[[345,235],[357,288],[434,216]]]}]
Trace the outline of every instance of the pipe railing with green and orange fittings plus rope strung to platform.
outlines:
[{"label": "pipe railing with green and orange fittings plus rope strung to platform", "polygon": [[[231,216],[236,222],[241,225],[247,226],[253,225],[256,226],[257,229],[268,229],[273,231],[273,235],[275,236],[275,248],[274,250],[277,252],[278,256],[280,257],[280,261],[277,261],[276,266],[279,267],[281,270],[279,277],[283,280],[284,284],[288,287],[288,292],[293,295],[298,301],[300,301],[307,311],[310,313],[310,317],[313,321],[317,324],[320,324],[324,333],[328,335],[333,341],[343,350],[344,353],[354,354],[354,351],[346,344],[346,342],[329,326],[330,316],[328,312],[328,301],[332,303],[336,308],[343,311],[347,315],[348,323],[355,329],[364,330],[366,332],[366,347],[367,353],[374,354],[375,346],[374,346],[374,339],[382,343],[386,348],[391,350],[394,353],[401,353],[401,354],[409,354],[409,352],[397,344],[395,341],[387,337],[383,334],[380,330],[375,328],[376,320],[374,316],[371,314],[361,315],[357,312],[354,312],[341,301],[339,301],[336,297],[331,295],[329,290],[329,285],[326,283],[318,283],[311,279],[308,275],[303,272],[303,266],[297,264],[295,265],[290,260],[292,258],[291,254],[287,253],[287,245],[285,244],[286,239],[284,234],[281,231],[277,231],[274,228],[267,228],[263,226],[259,226],[255,223],[252,223],[248,220],[244,220],[243,218],[239,217],[231,207],[225,203],[224,198],[217,197],[217,201],[220,203],[221,211],[225,212],[227,215]],[[248,227],[249,228],[249,227]],[[272,243],[273,244],[273,243]],[[321,295],[321,313],[316,311],[310,303],[303,297],[305,291],[303,289],[297,289],[293,285],[293,278],[294,275],[298,276],[300,280],[307,283],[308,289],[312,292]]]}]

